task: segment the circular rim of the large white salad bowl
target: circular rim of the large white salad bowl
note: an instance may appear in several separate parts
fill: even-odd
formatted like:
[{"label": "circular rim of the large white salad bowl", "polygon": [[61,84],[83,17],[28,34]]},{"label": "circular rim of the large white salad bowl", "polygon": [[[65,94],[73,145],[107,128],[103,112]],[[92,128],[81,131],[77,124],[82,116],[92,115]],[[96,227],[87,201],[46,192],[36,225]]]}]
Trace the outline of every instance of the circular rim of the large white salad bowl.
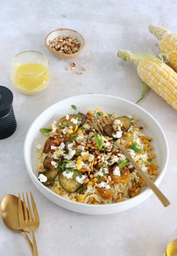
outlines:
[{"label": "circular rim of the large white salad bowl", "polygon": [[[34,174],[33,170],[29,167],[28,165],[28,162],[27,162],[27,158],[26,158],[26,155],[27,155],[27,152],[26,150],[28,149],[27,147],[27,139],[30,135],[30,132],[31,132],[31,128],[33,126],[33,124],[36,122],[36,120],[41,116],[41,115],[44,115],[45,112],[48,112],[50,108],[53,108],[55,105],[59,104],[60,102],[63,102],[63,101],[67,101],[68,99],[74,99],[74,98],[82,98],[82,97],[94,97],[94,96],[99,96],[99,97],[108,97],[108,98],[115,98],[117,100],[120,100],[120,101],[124,101],[130,105],[133,105],[133,106],[136,106],[138,109],[140,109],[141,111],[145,112],[150,118],[153,119],[153,121],[156,123],[157,127],[160,129],[162,135],[163,135],[163,140],[165,142],[165,150],[166,150],[166,159],[165,159],[165,165],[164,167],[162,168],[162,172],[157,176],[156,180],[154,181],[154,183],[156,184],[156,186],[158,187],[158,185],[160,184],[160,182],[162,181],[163,179],[163,176],[166,172],[166,167],[168,165],[168,159],[169,159],[169,149],[168,149],[168,142],[167,142],[167,139],[166,139],[166,135],[162,129],[162,127],[160,126],[160,124],[158,124],[158,122],[156,121],[156,119],[150,114],[148,113],[145,109],[143,109],[141,106],[138,106],[137,104],[134,104],[133,102],[131,101],[128,101],[126,99],[123,99],[123,98],[120,98],[120,97],[117,97],[117,96],[113,96],[113,95],[106,95],[106,94],[83,94],[83,95],[77,95],[77,96],[72,96],[72,97],[69,97],[69,98],[65,98],[61,101],[57,101],[56,103],[52,104],[51,106],[49,106],[48,108],[46,108],[42,113],[40,113],[40,115],[37,116],[37,118],[34,119],[34,121],[32,122],[31,126],[29,127],[28,129],[28,132],[26,133],[26,137],[25,137],[25,140],[24,140],[24,146],[23,146],[23,156],[24,156],[24,160],[25,160],[25,164],[26,164],[26,168],[27,168],[27,171],[29,173],[29,176],[33,177],[35,182],[38,183],[38,185],[41,187],[42,190],[48,192],[49,194],[51,194],[51,196],[54,196],[55,198],[59,198],[61,201],[63,202],[66,202],[66,203],[69,203],[69,204],[73,204],[77,207],[78,204],[82,205],[82,207],[86,207],[86,208],[110,208],[110,207],[116,207],[117,204],[116,203],[111,203],[111,204],[98,204],[98,205],[95,205],[95,204],[83,204],[83,203],[79,203],[79,202],[75,202],[75,201],[72,201],[72,200],[69,200],[67,198],[64,198],[60,195],[57,195],[56,193],[54,193],[52,190],[50,190],[48,187],[45,187],[39,180],[38,178],[36,177],[36,175]],[[32,179],[31,177],[31,179]],[[119,205],[126,205],[128,204],[130,201],[133,203],[136,202],[136,201],[144,201],[146,200],[146,198],[148,198],[151,194],[152,194],[152,190],[147,187],[146,190],[144,190],[142,193],[140,193],[139,195],[133,197],[133,198],[129,198],[128,200],[125,200],[125,201],[121,201],[119,202]],[[142,200],[138,200],[138,198],[142,198]],[[137,204],[134,204],[134,205],[137,205]]]}]

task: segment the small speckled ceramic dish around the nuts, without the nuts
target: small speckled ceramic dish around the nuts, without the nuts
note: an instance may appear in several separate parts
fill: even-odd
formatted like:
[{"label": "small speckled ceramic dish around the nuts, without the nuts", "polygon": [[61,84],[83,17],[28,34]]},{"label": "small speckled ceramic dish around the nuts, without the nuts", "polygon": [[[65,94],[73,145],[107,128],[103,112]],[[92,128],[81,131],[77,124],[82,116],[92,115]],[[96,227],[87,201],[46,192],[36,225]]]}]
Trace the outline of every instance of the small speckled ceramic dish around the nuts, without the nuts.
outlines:
[{"label": "small speckled ceramic dish around the nuts, without the nuts", "polygon": [[[60,36],[64,36],[64,37],[75,37],[78,42],[80,43],[80,48],[78,50],[78,52],[72,53],[72,54],[65,54],[62,52],[57,52],[55,50],[53,50],[51,47],[49,47],[49,41],[50,40],[54,40],[57,37]],[[72,30],[72,29],[56,29],[52,32],[49,33],[49,35],[46,36],[45,38],[45,44],[47,46],[47,49],[56,57],[60,58],[60,59],[72,59],[77,57],[77,55],[79,55],[84,47],[85,47],[85,40],[83,38],[82,35],[80,35],[79,32]]]}]

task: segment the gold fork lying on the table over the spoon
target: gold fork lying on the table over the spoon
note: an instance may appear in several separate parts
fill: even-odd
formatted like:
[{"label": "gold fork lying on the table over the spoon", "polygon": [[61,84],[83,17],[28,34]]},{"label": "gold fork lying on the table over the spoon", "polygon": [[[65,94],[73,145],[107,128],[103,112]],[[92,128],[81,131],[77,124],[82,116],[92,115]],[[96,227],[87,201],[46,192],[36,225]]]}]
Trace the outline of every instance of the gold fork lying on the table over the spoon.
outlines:
[{"label": "gold fork lying on the table over the spoon", "polygon": [[28,211],[26,208],[26,201],[25,201],[25,196],[23,193],[23,205],[24,205],[25,216],[23,215],[23,208],[22,208],[21,197],[20,197],[20,193],[19,193],[18,194],[19,219],[20,219],[20,225],[21,225],[22,229],[25,230],[26,232],[29,232],[31,235],[34,256],[38,256],[37,244],[36,244],[36,239],[34,236],[34,231],[37,230],[37,228],[39,227],[39,216],[37,213],[36,204],[34,202],[34,198],[32,196],[31,191],[30,191],[30,196],[31,196],[31,205],[32,205],[32,209],[33,209],[34,219],[32,218],[31,207],[29,204],[29,198],[28,198],[27,192],[26,192],[26,198],[27,198],[27,203],[28,203],[29,214],[28,214]]}]

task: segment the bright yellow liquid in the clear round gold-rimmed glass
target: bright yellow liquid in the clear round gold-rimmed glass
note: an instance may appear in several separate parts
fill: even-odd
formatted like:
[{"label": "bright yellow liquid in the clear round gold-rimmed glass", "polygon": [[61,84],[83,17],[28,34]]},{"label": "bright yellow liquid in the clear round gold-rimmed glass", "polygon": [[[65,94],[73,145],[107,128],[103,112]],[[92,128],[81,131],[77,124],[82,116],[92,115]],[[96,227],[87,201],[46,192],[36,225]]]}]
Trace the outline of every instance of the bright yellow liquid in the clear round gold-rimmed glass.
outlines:
[{"label": "bright yellow liquid in the clear round gold-rimmed glass", "polygon": [[34,94],[49,84],[50,74],[45,66],[38,63],[25,63],[15,69],[13,83],[21,92]]}]

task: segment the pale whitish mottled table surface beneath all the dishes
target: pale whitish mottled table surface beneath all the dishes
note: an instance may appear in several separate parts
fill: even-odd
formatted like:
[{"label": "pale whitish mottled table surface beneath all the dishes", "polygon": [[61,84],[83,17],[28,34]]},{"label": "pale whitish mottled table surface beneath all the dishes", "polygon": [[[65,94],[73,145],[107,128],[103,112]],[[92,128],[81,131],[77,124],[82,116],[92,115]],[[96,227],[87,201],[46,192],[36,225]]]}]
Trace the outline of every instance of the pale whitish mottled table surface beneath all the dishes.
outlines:
[{"label": "pale whitish mottled table surface beneath all the dishes", "polygon": [[[0,85],[14,94],[17,130],[0,141],[0,198],[32,191],[40,215],[36,239],[41,256],[162,256],[169,237],[177,228],[175,170],[177,113],[155,92],[140,102],[163,127],[170,160],[160,189],[171,205],[164,208],[152,195],[137,207],[107,216],[88,216],[61,208],[34,187],[23,160],[23,141],[32,121],[48,106],[72,95],[104,93],[135,102],[140,98],[136,67],[116,57],[120,49],[157,55],[159,43],[148,32],[150,23],[177,32],[175,1],[17,1],[0,2]],[[86,39],[86,48],[74,61],[87,72],[66,71],[70,60],[59,60],[48,52],[45,36],[54,29],[76,29]],[[25,50],[43,52],[51,65],[46,91],[30,96],[11,83],[14,55]],[[0,221],[0,255],[28,256],[19,233]]]}]

